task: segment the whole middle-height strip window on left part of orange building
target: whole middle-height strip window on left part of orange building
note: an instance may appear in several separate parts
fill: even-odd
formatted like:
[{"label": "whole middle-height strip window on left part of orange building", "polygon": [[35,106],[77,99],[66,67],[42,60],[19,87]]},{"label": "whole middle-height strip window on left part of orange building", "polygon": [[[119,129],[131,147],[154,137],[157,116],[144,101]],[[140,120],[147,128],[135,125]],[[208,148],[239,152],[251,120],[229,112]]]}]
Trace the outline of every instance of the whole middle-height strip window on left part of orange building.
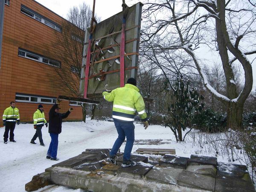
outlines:
[{"label": "whole middle-height strip window on left part of orange building", "polygon": [[30,51],[25,50],[25,49],[19,48],[18,49],[18,55],[21,56],[21,57],[25,57],[25,58],[35,60],[35,61],[39,61],[41,63],[49,64],[49,65],[52,65],[54,67],[59,67],[59,68],[61,67],[61,61],[57,61],[57,60],[54,60],[54,59],[51,59],[51,58],[47,58],[43,55],[39,55],[37,53],[30,52]]}]

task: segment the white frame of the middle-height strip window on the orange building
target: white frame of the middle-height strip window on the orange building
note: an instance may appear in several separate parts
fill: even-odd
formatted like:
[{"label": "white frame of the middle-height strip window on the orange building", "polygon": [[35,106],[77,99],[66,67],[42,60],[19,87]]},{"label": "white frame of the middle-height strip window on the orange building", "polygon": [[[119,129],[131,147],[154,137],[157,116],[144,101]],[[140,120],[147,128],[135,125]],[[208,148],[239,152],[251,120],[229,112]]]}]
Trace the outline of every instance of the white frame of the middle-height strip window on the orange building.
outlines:
[{"label": "white frame of the middle-height strip window on the orange building", "polygon": [[[23,55],[20,55],[20,52],[23,52],[25,54],[25,56]],[[31,58],[31,57],[28,57],[27,55],[32,55],[34,57],[38,57],[38,59],[34,59],[34,58]],[[38,61],[38,62],[41,62],[41,63],[44,63],[44,64],[47,64],[47,65],[51,65],[53,67],[58,67],[58,68],[61,68],[61,61],[58,61],[58,60],[55,60],[55,59],[51,59],[51,58],[48,58],[48,57],[45,57],[43,55],[39,55],[39,54],[36,54],[34,52],[30,52],[26,49],[22,49],[19,47],[18,49],[18,56],[20,57],[24,57],[24,58],[28,58],[28,59],[31,59],[31,60],[34,60],[34,61]],[[48,62],[44,62],[43,59],[45,60],[48,60]],[[50,62],[54,62],[54,63],[57,63],[58,65],[53,65],[51,64]]]}]

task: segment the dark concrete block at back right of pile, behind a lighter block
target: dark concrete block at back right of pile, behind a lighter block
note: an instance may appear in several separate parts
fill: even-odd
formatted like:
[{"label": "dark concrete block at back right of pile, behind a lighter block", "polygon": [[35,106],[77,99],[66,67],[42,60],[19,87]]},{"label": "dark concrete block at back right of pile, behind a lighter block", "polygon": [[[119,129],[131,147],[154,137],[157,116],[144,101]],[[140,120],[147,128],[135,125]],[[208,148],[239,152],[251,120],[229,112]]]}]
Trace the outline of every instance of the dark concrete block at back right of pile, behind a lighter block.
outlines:
[{"label": "dark concrete block at back right of pile, behind a lighter block", "polygon": [[189,165],[212,165],[217,169],[217,158],[207,156],[191,155],[188,160]]}]

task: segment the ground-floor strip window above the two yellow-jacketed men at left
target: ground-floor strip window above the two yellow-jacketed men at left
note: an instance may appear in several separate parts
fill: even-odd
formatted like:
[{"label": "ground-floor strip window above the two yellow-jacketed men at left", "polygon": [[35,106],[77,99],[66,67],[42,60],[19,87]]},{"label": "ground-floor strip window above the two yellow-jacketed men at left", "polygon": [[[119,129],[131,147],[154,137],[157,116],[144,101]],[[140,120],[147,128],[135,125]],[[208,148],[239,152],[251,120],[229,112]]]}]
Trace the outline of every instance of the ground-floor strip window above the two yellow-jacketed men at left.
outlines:
[{"label": "ground-floor strip window above the two yellow-jacketed men at left", "polygon": [[23,93],[16,93],[15,97],[16,102],[27,102],[27,103],[45,103],[45,104],[53,104],[56,102],[54,97],[47,96],[35,96]]}]

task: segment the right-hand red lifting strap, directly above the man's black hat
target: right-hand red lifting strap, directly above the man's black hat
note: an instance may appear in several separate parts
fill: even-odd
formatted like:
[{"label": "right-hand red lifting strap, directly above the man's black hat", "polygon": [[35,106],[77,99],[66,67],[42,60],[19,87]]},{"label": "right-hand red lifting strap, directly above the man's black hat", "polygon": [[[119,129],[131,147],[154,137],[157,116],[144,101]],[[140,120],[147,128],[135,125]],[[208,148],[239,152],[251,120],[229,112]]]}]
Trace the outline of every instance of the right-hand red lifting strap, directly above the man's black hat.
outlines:
[{"label": "right-hand red lifting strap, directly above the man's black hat", "polygon": [[125,86],[125,18],[123,18],[120,43],[120,87]]}]

